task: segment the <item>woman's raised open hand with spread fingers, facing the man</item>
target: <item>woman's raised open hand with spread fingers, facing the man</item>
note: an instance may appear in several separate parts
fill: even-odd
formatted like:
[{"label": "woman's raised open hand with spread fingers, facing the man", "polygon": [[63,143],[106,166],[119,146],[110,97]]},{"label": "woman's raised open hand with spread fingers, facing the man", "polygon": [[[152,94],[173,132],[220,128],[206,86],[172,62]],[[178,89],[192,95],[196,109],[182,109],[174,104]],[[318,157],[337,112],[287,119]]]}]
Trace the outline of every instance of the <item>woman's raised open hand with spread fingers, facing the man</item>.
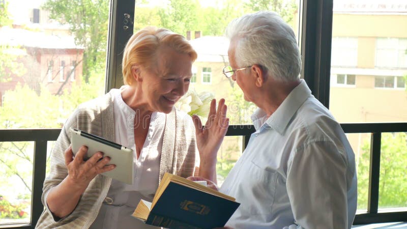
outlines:
[{"label": "woman's raised open hand with spread fingers, facing the man", "polygon": [[198,116],[192,117],[195,132],[196,132],[196,145],[199,150],[201,160],[208,160],[209,162],[216,163],[216,154],[222,144],[223,138],[226,134],[227,127],[229,126],[229,119],[226,118],[227,106],[225,100],[221,99],[216,109],[216,100],[211,102],[209,110],[208,121],[205,127]]}]

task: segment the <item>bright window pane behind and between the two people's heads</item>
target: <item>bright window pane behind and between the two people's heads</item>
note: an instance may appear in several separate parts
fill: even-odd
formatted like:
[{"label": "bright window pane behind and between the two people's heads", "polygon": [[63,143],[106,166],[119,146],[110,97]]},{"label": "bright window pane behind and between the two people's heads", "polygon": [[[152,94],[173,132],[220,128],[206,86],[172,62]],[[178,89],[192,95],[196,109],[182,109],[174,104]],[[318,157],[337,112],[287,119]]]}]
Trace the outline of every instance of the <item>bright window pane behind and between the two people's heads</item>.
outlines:
[{"label": "bright window pane behind and between the two people's heads", "polygon": [[[243,93],[237,83],[222,74],[223,67],[229,65],[229,41],[224,37],[225,27],[232,19],[245,13],[273,10],[298,34],[297,4],[299,1],[295,0],[136,1],[134,31],[154,25],[169,28],[185,36],[198,53],[193,64],[198,70],[196,82],[190,85],[190,90],[194,89],[197,93],[211,92],[217,101],[225,98],[231,125],[251,124],[251,119],[244,116],[250,116],[254,106],[243,100]],[[231,107],[234,108],[230,109]]]}]

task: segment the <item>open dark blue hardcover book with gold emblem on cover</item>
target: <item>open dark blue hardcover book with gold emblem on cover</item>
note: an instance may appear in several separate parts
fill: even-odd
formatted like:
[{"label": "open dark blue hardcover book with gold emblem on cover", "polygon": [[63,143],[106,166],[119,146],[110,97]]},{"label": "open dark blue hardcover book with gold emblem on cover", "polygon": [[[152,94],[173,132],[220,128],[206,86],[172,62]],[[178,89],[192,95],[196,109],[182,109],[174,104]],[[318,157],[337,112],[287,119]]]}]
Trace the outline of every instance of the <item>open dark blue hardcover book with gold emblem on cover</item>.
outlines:
[{"label": "open dark blue hardcover book with gold emblem on cover", "polygon": [[141,200],[132,215],[166,228],[214,228],[224,226],[239,205],[231,196],[167,173],[153,203]]}]

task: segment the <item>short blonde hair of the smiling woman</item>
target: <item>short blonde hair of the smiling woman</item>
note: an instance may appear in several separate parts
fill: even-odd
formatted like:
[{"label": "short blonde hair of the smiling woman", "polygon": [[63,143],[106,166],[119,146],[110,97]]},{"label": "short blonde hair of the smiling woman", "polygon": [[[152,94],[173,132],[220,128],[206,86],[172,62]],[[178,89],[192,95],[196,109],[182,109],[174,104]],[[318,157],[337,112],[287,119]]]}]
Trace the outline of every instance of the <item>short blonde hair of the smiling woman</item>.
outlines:
[{"label": "short blonde hair of the smiling woman", "polygon": [[157,50],[160,46],[168,46],[180,53],[189,54],[195,61],[197,53],[185,37],[166,28],[148,26],[133,34],[126,44],[123,53],[123,80],[132,85],[134,78],[132,68],[142,66],[149,69],[157,60]]}]

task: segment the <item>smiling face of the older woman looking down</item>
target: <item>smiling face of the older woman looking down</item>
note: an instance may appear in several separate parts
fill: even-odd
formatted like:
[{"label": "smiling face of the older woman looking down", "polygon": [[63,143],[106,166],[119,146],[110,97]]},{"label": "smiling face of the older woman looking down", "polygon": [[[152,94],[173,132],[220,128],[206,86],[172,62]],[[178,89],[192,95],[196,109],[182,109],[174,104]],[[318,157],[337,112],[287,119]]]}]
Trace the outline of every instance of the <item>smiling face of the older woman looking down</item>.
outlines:
[{"label": "smiling face of the older woman looking down", "polygon": [[192,76],[192,60],[168,46],[157,51],[157,63],[141,70],[140,87],[147,109],[169,113],[174,104],[188,91]]}]

